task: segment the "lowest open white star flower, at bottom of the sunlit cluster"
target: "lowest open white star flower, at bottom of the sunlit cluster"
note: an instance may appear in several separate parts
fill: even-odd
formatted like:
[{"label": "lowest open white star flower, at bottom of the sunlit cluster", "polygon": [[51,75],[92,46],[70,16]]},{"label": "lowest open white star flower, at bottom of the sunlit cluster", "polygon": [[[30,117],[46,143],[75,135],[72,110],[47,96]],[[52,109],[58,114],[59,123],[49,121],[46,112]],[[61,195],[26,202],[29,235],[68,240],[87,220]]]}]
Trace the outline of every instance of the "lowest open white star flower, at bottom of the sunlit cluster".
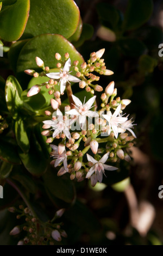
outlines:
[{"label": "lowest open white star flower, at bottom of the sunlit cluster", "polygon": [[118,169],[114,166],[109,166],[108,164],[105,164],[105,162],[108,160],[109,153],[106,153],[99,161],[93,159],[93,157],[90,156],[89,154],[86,154],[86,155],[87,155],[87,160],[93,163],[93,166],[90,168],[89,172],[87,172],[85,177],[85,178],[91,177],[92,186],[95,186],[97,181],[99,181],[100,183],[102,182],[103,174],[105,175],[104,170]]}]

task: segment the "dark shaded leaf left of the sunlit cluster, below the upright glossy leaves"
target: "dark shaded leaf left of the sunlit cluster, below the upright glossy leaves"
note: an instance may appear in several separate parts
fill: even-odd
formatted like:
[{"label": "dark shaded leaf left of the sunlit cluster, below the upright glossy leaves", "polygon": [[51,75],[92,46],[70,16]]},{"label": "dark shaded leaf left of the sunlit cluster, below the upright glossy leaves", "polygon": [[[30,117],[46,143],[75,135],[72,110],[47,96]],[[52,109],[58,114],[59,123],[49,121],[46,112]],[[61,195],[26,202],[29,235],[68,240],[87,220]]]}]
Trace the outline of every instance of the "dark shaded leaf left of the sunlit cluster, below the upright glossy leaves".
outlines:
[{"label": "dark shaded leaf left of the sunlit cluster, below the upright glossy leaves", "polygon": [[23,153],[21,149],[18,149],[18,154],[29,173],[41,175],[46,171],[48,159],[42,152],[42,148],[39,142],[37,142],[34,133],[30,136],[30,149],[28,153]]}]

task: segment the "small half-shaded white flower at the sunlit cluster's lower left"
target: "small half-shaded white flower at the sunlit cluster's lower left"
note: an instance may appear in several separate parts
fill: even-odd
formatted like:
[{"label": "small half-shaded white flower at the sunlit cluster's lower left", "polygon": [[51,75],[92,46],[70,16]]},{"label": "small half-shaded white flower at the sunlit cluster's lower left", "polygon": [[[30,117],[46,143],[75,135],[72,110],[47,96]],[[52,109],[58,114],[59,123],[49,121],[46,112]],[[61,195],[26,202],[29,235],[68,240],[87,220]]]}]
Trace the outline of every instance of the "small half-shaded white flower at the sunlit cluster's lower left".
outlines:
[{"label": "small half-shaded white flower at the sunlit cluster's lower left", "polygon": [[51,148],[54,150],[51,152],[51,155],[56,159],[54,167],[57,167],[60,163],[64,162],[64,168],[68,172],[66,150],[62,154],[59,154],[58,147],[56,145],[51,145]]}]

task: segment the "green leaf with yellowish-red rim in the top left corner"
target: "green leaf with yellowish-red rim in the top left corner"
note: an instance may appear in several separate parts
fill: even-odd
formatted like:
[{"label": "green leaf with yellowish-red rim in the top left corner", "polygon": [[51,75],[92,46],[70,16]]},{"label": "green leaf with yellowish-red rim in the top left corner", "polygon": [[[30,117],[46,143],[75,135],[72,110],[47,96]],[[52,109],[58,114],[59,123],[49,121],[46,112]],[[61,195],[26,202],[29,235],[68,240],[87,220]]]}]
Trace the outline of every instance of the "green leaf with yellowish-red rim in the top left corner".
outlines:
[{"label": "green leaf with yellowish-red rim in the top left corner", "polygon": [[[0,12],[0,36],[5,41],[14,41],[21,37],[29,16],[30,1],[17,0],[4,6]],[[13,1],[12,1],[13,2]],[[4,2],[5,5],[5,2]]]}]

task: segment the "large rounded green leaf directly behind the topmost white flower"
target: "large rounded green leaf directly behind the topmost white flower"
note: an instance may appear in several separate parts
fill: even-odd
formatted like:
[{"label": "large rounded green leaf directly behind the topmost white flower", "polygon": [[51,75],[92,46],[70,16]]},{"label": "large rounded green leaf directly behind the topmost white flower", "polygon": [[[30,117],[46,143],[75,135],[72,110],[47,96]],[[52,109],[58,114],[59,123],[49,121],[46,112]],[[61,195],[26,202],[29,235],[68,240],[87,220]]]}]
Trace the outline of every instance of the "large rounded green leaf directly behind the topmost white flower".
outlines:
[{"label": "large rounded green leaf directly behind the topmost white flower", "polygon": [[64,54],[68,52],[72,62],[78,60],[79,65],[84,62],[76,48],[63,36],[50,34],[36,36],[24,45],[17,60],[17,75],[22,80],[22,84],[27,84],[30,80],[30,76],[24,74],[24,70],[34,69],[38,71],[35,57],[40,57],[46,66],[56,68],[56,52],[61,54],[62,59],[64,59]]}]

